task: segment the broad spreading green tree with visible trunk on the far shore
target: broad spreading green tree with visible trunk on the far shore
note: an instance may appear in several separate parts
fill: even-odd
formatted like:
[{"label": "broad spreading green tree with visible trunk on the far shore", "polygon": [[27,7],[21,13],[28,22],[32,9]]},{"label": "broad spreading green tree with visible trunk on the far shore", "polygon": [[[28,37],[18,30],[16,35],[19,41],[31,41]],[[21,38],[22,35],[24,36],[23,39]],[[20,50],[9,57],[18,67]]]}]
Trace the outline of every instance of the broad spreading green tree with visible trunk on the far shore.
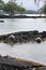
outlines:
[{"label": "broad spreading green tree with visible trunk on the far shore", "polygon": [[24,12],[25,11],[25,8],[20,6],[20,5],[17,5],[17,3],[15,2],[7,2],[5,3],[4,5],[4,11],[10,13],[11,15],[14,15],[15,11],[17,12]]}]

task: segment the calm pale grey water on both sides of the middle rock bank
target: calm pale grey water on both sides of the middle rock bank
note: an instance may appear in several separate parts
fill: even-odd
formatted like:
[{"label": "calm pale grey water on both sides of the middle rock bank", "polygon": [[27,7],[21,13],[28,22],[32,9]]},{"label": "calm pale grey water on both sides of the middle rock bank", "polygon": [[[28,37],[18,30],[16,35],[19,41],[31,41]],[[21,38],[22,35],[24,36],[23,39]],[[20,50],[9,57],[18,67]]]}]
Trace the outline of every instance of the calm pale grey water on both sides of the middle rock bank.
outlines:
[{"label": "calm pale grey water on both sides of the middle rock bank", "polygon": [[[29,30],[46,31],[46,18],[2,18],[2,20],[4,23],[0,23],[0,34]],[[46,41],[40,44],[27,42],[14,45],[0,42],[0,55],[46,64]]]}]

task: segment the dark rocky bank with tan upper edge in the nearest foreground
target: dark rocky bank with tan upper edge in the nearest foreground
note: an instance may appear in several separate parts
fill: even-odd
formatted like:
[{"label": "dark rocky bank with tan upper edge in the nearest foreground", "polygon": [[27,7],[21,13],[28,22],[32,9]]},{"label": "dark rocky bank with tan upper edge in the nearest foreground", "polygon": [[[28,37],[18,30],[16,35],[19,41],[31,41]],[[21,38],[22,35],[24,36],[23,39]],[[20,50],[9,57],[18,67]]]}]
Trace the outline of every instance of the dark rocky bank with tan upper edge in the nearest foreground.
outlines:
[{"label": "dark rocky bank with tan upper edge in the nearest foreground", "polygon": [[46,70],[46,66],[20,58],[0,56],[0,70]]}]

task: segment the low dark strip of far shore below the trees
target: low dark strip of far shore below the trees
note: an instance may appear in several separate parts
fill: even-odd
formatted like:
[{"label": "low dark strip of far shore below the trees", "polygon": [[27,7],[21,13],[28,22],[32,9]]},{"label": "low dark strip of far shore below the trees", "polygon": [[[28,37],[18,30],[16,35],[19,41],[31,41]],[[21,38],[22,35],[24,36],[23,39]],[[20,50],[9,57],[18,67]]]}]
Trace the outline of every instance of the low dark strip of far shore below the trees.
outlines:
[{"label": "low dark strip of far shore below the trees", "polygon": [[0,15],[0,18],[46,18],[46,16],[27,16],[27,15],[18,15],[18,16],[11,16],[11,15]]}]

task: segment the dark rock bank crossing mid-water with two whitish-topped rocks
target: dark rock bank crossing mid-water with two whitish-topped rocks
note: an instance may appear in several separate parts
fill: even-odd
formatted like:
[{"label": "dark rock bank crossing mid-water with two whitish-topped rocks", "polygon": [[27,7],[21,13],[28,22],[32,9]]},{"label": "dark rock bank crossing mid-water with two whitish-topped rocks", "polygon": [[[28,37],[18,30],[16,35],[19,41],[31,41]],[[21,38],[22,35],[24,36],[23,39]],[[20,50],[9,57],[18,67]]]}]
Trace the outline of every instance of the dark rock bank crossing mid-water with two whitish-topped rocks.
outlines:
[{"label": "dark rock bank crossing mid-water with two whitish-topped rocks", "polygon": [[4,43],[22,43],[22,42],[37,42],[46,40],[46,31],[39,32],[34,31],[19,31],[0,36],[0,42]]}]

